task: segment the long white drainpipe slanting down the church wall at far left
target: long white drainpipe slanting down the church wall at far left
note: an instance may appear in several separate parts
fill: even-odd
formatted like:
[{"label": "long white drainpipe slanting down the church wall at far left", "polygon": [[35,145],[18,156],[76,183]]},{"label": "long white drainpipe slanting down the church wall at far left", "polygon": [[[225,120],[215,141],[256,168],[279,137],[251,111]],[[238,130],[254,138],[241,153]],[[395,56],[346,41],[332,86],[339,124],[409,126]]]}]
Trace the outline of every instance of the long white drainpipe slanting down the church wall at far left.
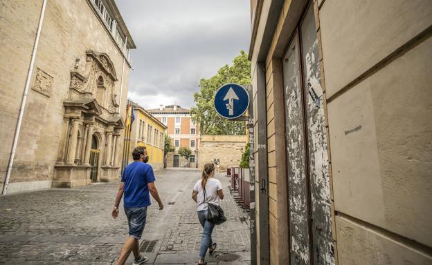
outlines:
[{"label": "long white drainpipe slanting down the church wall at far left", "polygon": [[13,166],[13,161],[14,161],[15,153],[17,151],[19,132],[21,131],[21,123],[22,123],[22,119],[23,119],[23,116],[24,116],[24,109],[26,108],[26,100],[27,100],[27,95],[28,95],[28,88],[30,88],[30,79],[31,79],[31,75],[32,75],[32,72],[33,72],[33,65],[35,64],[37,46],[39,44],[39,37],[40,37],[41,31],[42,31],[42,22],[44,21],[45,8],[46,8],[46,0],[44,0],[44,3],[42,3],[42,11],[41,11],[41,15],[40,15],[40,18],[39,18],[39,26],[37,26],[37,33],[36,33],[35,44],[33,46],[33,53],[32,53],[32,57],[31,57],[31,60],[30,60],[30,67],[28,68],[28,73],[27,73],[26,87],[24,88],[24,95],[23,95],[23,98],[22,98],[22,101],[21,101],[21,108],[19,109],[19,117],[18,117],[18,122],[17,122],[17,128],[15,129],[15,137],[14,137],[14,141],[13,141],[13,144],[12,144],[12,152],[10,153],[8,171],[6,173],[5,181],[4,181],[4,184],[3,184],[3,193],[2,193],[3,195],[6,195],[6,192],[8,191],[10,172],[12,171],[12,166]]}]

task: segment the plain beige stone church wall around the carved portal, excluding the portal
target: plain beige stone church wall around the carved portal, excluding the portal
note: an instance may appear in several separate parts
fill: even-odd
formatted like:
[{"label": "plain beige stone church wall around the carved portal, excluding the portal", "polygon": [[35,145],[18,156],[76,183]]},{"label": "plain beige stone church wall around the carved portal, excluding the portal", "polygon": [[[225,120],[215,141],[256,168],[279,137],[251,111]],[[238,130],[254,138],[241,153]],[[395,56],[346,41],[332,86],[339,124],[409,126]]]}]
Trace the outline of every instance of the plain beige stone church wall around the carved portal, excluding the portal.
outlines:
[{"label": "plain beige stone church wall around the carved portal, excluding the portal", "polygon": [[[2,23],[8,23],[8,26],[1,27],[1,35],[7,37],[7,40],[1,43],[0,62],[0,99],[6,102],[0,107],[0,122],[6,125],[0,132],[3,140],[0,153],[1,183],[6,175],[42,0],[8,0],[2,4],[1,17],[5,18]],[[63,102],[68,97],[71,71],[75,66],[84,67],[87,50],[105,52],[114,63],[118,78],[114,90],[120,99],[123,55],[89,5],[87,1],[74,1],[73,4],[69,0],[47,1],[17,154],[10,177],[11,186],[13,183],[26,181],[46,183],[53,179],[64,122]],[[37,75],[44,80],[41,88],[37,86]],[[125,113],[128,77],[129,66],[125,63],[120,115]],[[81,137],[83,131],[83,128],[80,128]],[[120,139],[123,139],[123,135]],[[123,141],[118,141],[117,148],[123,148]],[[116,158],[118,165],[121,163],[119,159],[120,156]]]}]

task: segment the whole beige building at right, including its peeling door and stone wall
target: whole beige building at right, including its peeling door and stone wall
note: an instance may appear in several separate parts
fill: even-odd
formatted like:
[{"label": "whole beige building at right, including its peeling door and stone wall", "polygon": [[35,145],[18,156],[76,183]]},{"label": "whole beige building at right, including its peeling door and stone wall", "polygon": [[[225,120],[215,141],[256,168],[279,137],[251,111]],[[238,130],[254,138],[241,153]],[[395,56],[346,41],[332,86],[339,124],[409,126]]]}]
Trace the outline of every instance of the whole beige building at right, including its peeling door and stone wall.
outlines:
[{"label": "whole beige building at right, including its peeling door and stone wall", "polygon": [[432,264],[431,1],[251,17],[252,263]]}]

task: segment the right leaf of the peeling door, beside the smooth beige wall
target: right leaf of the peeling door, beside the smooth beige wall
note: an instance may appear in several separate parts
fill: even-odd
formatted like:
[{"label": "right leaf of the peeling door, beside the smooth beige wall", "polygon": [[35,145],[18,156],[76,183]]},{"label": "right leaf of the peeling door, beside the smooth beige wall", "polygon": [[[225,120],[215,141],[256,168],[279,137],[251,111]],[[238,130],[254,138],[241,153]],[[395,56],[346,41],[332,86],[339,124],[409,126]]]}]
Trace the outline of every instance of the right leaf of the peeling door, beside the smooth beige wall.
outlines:
[{"label": "right leaf of the peeling door, beside the smooth beige wall", "polygon": [[323,88],[318,59],[318,40],[314,8],[305,14],[301,26],[303,50],[303,81],[305,84],[307,154],[312,215],[314,264],[334,264],[332,213],[330,208],[330,175],[327,155],[327,135],[323,106]]}]

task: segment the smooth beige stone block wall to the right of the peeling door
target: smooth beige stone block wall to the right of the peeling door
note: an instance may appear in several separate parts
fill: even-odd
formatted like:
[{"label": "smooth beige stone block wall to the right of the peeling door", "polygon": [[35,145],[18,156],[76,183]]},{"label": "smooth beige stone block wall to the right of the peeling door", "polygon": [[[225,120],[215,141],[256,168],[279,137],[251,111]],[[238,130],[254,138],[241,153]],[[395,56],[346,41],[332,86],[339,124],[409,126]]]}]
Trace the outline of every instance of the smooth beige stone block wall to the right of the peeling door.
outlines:
[{"label": "smooth beige stone block wall to the right of the peeling door", "polygon": [[430,264],[431,1],[318,14],[339,264]]}]

